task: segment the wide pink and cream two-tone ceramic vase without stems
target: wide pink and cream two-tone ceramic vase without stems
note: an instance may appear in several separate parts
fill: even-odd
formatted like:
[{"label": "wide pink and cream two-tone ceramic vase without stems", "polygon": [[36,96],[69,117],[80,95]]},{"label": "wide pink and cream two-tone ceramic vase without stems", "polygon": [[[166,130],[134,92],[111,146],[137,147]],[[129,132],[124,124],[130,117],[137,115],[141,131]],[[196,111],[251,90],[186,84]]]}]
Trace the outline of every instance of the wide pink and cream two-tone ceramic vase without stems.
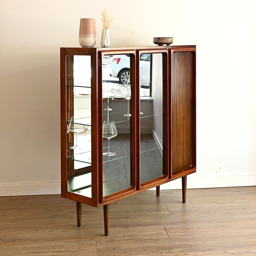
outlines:
[{"label": "wide pink and cream two-tone ceramic vase without stems", "polygon": [[79,44],[82,47],[93,47],[96,44],[95,18],[81,18],[79,28]]}]

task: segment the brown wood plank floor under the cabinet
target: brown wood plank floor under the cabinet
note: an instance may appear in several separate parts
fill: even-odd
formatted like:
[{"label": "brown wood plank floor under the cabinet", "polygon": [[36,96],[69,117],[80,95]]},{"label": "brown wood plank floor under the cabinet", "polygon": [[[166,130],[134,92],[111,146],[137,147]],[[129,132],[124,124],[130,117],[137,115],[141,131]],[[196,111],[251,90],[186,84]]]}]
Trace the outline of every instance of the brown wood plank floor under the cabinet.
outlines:
[{"label": "brown wood plank floor under the cabinet", "polygon": [[256,187],[141,192],[103,208],[60,195],[0,197],[0,255],[256,255]]}]

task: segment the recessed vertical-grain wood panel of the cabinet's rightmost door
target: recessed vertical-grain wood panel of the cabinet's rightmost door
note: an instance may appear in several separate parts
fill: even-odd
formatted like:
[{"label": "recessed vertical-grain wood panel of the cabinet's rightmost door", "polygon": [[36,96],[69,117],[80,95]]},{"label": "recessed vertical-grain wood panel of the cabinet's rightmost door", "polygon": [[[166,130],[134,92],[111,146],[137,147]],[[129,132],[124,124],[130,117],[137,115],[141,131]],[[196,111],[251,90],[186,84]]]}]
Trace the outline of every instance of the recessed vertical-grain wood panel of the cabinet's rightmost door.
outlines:
[{"label": "recessed vertical-grain wood panel of the cabinet's rightmost door", "polygon": [[195,62],[193,52],[172,54],[172,173],[195,167]]}]

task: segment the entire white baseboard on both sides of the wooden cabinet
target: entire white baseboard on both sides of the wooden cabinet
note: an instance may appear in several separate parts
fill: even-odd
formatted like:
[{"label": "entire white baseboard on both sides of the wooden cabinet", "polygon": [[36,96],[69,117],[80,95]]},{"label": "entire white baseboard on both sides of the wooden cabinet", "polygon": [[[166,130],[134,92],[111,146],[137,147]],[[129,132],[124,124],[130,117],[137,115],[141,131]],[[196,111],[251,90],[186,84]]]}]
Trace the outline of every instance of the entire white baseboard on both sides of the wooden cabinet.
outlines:
[{"label": "entire white baseboard on both sides of the wooden cabinet", "polygon": [[[216,177],[193,177],[193,175],[196,174],[188,175],[188,189],[256,186],[256,175]],[[60,187],[60,183],[0,185],[0,196],[60,194]],[[177,179],[160,186],[161,190],[181,188],[181,179]],[[152,190],[154,189],[155,188]]]}]

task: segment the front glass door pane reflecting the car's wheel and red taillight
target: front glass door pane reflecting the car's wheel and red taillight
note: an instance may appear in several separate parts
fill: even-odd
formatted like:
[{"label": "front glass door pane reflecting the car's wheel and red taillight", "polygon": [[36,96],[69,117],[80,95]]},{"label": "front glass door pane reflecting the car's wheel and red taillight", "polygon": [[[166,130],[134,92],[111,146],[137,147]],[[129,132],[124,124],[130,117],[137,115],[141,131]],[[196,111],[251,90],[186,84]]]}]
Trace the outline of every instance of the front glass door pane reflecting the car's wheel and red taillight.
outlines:
[{"label": "front glass door pane reflecting the car's wheel and red taillight", "polygon": [[131,187],[131,87],[130,55],[103,55],[103,197]]}]

